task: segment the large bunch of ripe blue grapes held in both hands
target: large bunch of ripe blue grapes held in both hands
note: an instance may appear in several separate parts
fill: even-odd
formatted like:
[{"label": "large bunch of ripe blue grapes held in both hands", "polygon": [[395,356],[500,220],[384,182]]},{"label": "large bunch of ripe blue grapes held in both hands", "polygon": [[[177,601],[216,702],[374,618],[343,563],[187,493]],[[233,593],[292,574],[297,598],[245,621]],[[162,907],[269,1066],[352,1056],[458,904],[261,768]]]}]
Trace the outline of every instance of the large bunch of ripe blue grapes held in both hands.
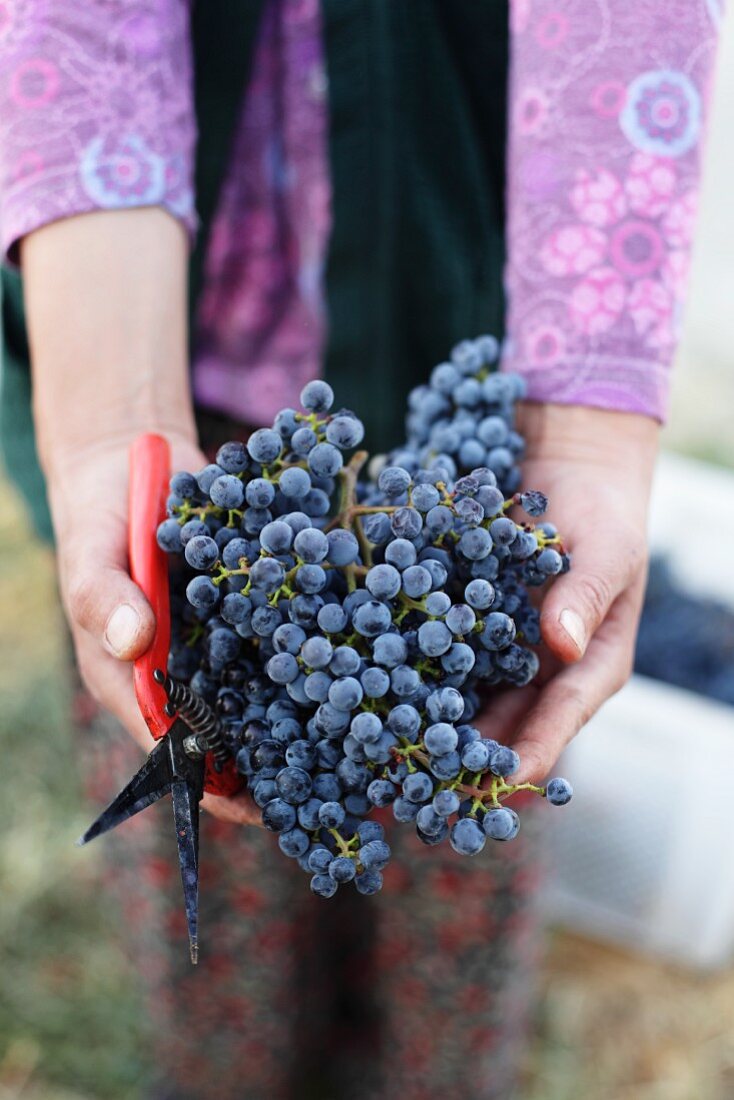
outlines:
[{"label": "large bunch of ripe blue grapes held in both hands", "polygon": [[487,691],[536,675],[529,590],[569,566],[533,522],[545,496],[519,492],[522,386],[496,358],[491,337],[454,349],[369,477],[361,421],[315,381],[300,411],[171,482],[168,671],[215,706],[263,824],[321,897],[381,889],[376,810],[473,856],[517,835],[518,790],[571,798],[563,779],[514,783],[517,754],[472,725]]}]

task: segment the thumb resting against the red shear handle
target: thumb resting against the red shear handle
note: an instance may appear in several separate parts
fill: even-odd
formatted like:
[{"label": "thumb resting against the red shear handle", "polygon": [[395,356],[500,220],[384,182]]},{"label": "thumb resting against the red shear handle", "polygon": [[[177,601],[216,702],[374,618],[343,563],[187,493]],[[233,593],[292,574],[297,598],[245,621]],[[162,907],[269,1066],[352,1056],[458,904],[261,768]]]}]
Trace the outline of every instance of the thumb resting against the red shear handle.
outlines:
[{"label": "thumb resting against the red shear handle", "polygon": [[[97,530],[100,534],[97,534]],[[62,590],[70,622],[122,661],[144,653],[153,640],[155,617],[128,575],[127,524],[107,515],[59,550]]]}]

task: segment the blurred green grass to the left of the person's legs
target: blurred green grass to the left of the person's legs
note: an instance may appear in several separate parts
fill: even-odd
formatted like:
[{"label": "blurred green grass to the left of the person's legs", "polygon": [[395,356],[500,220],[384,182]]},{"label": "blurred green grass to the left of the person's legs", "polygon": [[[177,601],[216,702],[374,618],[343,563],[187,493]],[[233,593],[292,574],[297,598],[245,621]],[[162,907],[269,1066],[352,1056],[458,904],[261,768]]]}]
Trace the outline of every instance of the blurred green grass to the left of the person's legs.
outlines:
[{"label": "blurred green grass to the left of the person's legs", "polygon": [[132,1100],[135,992],[105,934],[99,856],[73,843],[86,814],[53,564],[8,496],[0,488],[0,1100]]}]

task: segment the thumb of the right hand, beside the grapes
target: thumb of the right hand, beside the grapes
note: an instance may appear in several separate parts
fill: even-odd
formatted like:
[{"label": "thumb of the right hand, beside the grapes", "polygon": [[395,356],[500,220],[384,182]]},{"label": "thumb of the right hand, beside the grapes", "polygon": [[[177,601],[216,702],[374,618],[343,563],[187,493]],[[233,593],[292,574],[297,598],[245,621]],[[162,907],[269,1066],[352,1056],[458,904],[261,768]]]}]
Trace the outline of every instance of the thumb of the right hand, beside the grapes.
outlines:
[{"label": "thumb of the right hand, beside the grapes", "polygon": [[540,628],[562,661],[578,661],[614,601],[644,568],[645,547],[637,531],[593,528],[573,547],[571,570],[559,576],[543,601]]}]

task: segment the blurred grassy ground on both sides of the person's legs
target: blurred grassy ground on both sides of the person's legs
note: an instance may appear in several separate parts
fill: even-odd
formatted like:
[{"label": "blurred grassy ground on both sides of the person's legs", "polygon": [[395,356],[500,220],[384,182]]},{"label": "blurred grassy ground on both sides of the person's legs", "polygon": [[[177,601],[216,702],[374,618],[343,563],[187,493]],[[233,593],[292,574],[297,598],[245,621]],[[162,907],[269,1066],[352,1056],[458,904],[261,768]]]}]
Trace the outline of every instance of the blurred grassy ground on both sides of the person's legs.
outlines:
[{"label": "blurred grassy ground on both sides of the person's legs", "polygon": [[[0,1100],[138,1100],[134,965],[109,934],[99,855],[73,845],[88,814],[53,563],[12,502],[0,509],[0,745],[11,778],[0,801]],[[734,1096],[734,972],[699,977],[558,934],[543,988],[523,1100]]]}]

